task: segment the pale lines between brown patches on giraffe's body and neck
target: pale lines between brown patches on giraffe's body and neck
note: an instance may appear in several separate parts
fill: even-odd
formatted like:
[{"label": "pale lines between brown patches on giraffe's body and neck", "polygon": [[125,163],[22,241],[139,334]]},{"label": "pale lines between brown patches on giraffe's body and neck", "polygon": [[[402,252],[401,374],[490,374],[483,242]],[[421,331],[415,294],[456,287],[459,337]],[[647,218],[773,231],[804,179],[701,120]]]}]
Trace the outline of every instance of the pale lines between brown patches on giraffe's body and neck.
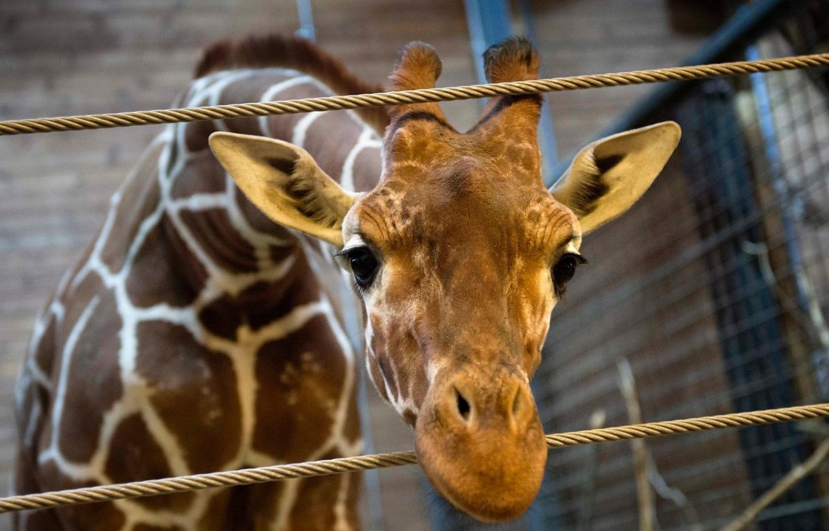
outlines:
[{"label": "pale lines between brown patches on giraffe's body and neck", "polygon": [[[301,85],[308,85],[309,88],[320,92],[330,92],[318,80],[314,80],[309,76],[298,75],[293,71],[265,69],[260,71],[219,72],[195,80],[182,100],[184,105],[187,106],[216,105],[220,102],[225,91],[236,83],[244,83],[245,80],[254,77],[262,79],[261,76],[284,76],[287,78],[264,90],[261,100],[279,99],[279,95],[284,90]],[[361,134],[359,138],[355,139],[354,146],[342,162],[342,175],[339,176],[342,178],[342,184],[345,188],[353,189],[354,162],[357,156],[365,149],[380,149],[381,144],[374,131],[364,124],[356,113],[349,112],[342,115],[356,120],[361,125]],[[295,129],[290,134],[295,144],[304,144],[309,127],[318,117],[319,114],[308,114],[298,120]],[[268,120],[264,117],[258,120],[262,133],[273,136],[274,132],[268,129]],[[230,124],[223,120],[215,120],[213,124],[217,130],[230,129]],[[23,403],[24,394],[27,392],[27,388],[32,385],[40,385],[47,390],[54,387],[56,398],[49,420],[51,422],[51,440],[48,446],[37,455],[37,460],[41,465],[46,462],[54,463],[61,474],[71,480],[79,482],[94,481],[99,484],[111,483],[111,478],[108,477],[105,467],[109,460],[109,452],[118,451],[111,447],[114,435],[124,418],[135,414],[140,415],[150,436],[162,449],[163,458],[172,475],[187,475],[192,472],[187,464],[187,455],[184,448],[187,441],[179,441],[176,432],[172,430],[172,426],[167,425],[169,419],[165,420],[159,415],[152,402],[153,382],[148,382],[138,370],[139,353],[142,348],[138,338],[138,327],[140,324],[151,322],[164,322],[186,329],[196,342],[201,343],[203,347],[214,353],[224,354],[232,363],[235,387],[239,394],[241,432],[239,451],[230,460],[221,464],[222,470],[230,470],[243,465],[271,465],[279,462],[277,456],[265,454],[253,447],[253,435],[256,430],[255,402],[259,385],[255,374],[256,353],[265,343],[286,338],[302,329],[311,319],[322,316],[337,339],[345,361],[346,372],[340,395],[331,404],[332,421],[328,436],[324,441],[319,441],[318,446],[305,456],[305,460],[316,460],[332,452],[339,455],[356,455],[361,451],[362,441],[359,438],[349,440],[345,435],[345,426],[350,415],[349,407],[355,394],[355,355],[348,335],[344,331],[343,325],[338,321],[332,303],[326,295],[323,294],[319,300],[308,304],[298,305],[288,311],[287,314],[284,314],[282,318],[265,324],[258,329],[250,328],[249,324],[241,324],[236,330],[236,338],[232,340],[211,332],[201,323],[199,314],[209,304],[216,302],[223,296],[239,295],[258,282],[278,282],[284,279],[298,262],[295,253],[288,254],[281,261],[274,261],[270,252],[272,247],[295,246],[296,241],[283,236],[264,233],[252,227],[240,211],[235,197],[235,188],[230,178],[225,177],[225,190],[223,192],[195,193],[177,199],[172,197],[173,184],[177,183],[177,179],[182,176],[183,170],[187,168],[187,163],[193,158],[193,153],[189,153],[187,150],[185,139],[188,127],[191,127],[191,125],[174,124],[167,126],[164,132],[153,141],[146,152],[148,154],[143,156],[142,163],[147,163],[149,157],[158,152],[159,147],[162,148],[156,163],[160,198],[158,204],[154,205],[148,216],[139,223],[133,240],[129,242],[123,265],[119,267],[119,270],[110,270],[102,255],[109,239],[118,233],[116,229],[120,227],[116,227],[116,222],[119,219],[118,212],[123,194],[133,178],[137,178],[138,171],[132,173],[119,192],[116,192],[112,197],[104,227],[99,232],[89,258],[75,272],[75,275],[71,277],[67,275],[61,282],[55,300],[41,314],[35,326],[30,348],[31,353],[26,366],[22,370],[16,390],[17,402],[18,406]],[[337,176],[332,177],[337,178]],[[239,273],[217,263],[206,250],[205,243],[200,239],[201,235],[195,234],[182,219],[182,214],[185,212],[192,214],[214,209],[227,212],[235,231],[238,231],[240,237],[253,247],[258,270]],[[128,291],[128,279],[133,272],[133,264],[139,251],[142,250],[148,236],[159,227],[162,220],[166,220],[172,225],[174,231],[184,242],[187,251],[205,268],[207,278],[192,304],[177,307],[168,303],[159,303],[148,307],[138,307],[131,300]],[[304,238],[300,241],[303,241],[303,244],[305,243]],[[333,265],[331,260],[330,252],[312,252],[304,245],[303,248],[305,249],[306,259],[311,262],[312,269],[318,275],[339,276],[335,269],[336,266]],[[74,324],[71,324],[71,332],[63,345],[62,352],[59,353],[61,361],[57,377],[55,375],[50,377],[44,373],[38,367],[32,353],[44,340],[43,336],[49,320],[56,319],[58,323],[62,321],[65,314],[64,301],[72,297],[75,290],[90,275],[98,277],[105,289],[109,290],[114,296],[118,317],[122,324],[118,336],[118,362],[124,391],[114,405],[104,412],[99,441],[97,441],[93,456],[87,462],[75,463],[61,455],[61,417],[64,412],[65,394],[68,387],[67,378],[72,363],[71,354],[80,334],[89,324],[95,309],[99,307],[99,296],[96,295],[80,314],[80,318]],[[53,383],[54,378],[57,378],[56,384]],[[29,424],[25,428],[25,436],[26,440],[30,441],[32,445],[35,444],[35,441],[31,440],[36,428],[36,421],[45,413],[39,411],[36,407],[28,412],[30,418]],[[334,529],[350,529],[347,519],[347,499],[350,483],[347,475],[343,475],[342,478],[337,480],[339,481],[337,499],[332,509],[336,519]],[[274,500],[277,510],[274,520],[271,522],[271,529],[284,529],[287,525],[298,496],[299,485],[301,485],[301,481],[298,480],[284,484],[281,498]],[[148,524],[158,526],[176,525],[184,530],[195,531],[199,529],[199,521],[206,514],[208,505],[211,499],[217,495],[217,492],[216,490],[206,490],[194,493],[192,503],[182,511],[151,509],[136,500],[121,500],[116,502],[115,505],[121,509],[125,516],[122,529],[132,529],[134,525]]]}]

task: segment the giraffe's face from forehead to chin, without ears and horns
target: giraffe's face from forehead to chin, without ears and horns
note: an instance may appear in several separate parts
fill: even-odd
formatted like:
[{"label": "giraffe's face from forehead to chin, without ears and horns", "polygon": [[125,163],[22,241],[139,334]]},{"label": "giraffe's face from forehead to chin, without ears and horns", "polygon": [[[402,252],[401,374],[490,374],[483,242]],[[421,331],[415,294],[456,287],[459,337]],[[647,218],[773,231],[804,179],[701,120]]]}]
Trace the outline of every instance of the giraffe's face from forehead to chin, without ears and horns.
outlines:
[{"label": "giraffe's face from forehead to chin, without ears and horns", "polygon": [[505,160],[454,153],[407,164],[403,181],[392,166],[346,217],[340,253],[365,302],[371,379],[438,490],[487,520],[521,514],[541,482],[529,380],[582,261],[574,212],[537,173],[516,184],[535,165]]}]

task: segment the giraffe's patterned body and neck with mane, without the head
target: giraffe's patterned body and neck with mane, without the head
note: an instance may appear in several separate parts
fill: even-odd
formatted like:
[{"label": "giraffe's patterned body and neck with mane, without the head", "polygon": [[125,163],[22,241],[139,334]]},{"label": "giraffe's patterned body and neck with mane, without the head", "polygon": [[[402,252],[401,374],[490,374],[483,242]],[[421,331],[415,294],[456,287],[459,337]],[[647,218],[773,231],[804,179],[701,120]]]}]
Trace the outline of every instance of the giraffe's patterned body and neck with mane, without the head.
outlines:
[{"label": "giraffe's patterned body and neck with mane, without the head", "polygon": [[[179,106],[376,91],[307,41],[206,51]],[[385,110],[168,126],[36,320],[17,381],[17,493],[361,453],[358,314],[325,247],[264,217],[208,149],[288,139],[345,188],[381,166]],[[345,295],[345,296],[343,296]],[[348,331],[347,331],[348,329]],[[358,477],[19,515],[17,529],[356,529]],[[298,503],[302,499],[303,503]]]}]

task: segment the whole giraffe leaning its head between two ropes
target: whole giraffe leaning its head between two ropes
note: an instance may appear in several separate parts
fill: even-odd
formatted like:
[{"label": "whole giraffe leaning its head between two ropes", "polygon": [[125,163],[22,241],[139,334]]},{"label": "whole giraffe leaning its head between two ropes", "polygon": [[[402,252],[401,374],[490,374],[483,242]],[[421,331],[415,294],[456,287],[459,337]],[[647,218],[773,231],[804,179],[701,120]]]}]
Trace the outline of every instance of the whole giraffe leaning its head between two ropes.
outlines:
[{"label": "whole giraffe leaning its head between two ropes", "polygon": [[[494,82],[537,78],[521,39],[485,64]],[[391,88],[432,86],[439,71],[413,43]],[[183,105],[371,91],[276,38],[217,46],[198,74]],[[345,272],[367,372],[414,427],[429,480],[478,519],[521,514],[546,455],[528,382],[581,237],[630,207],[679,139],[663,123],[599,140],[548,191],[540,105],[495,98],[465,134],[436,104],[165,129],[37,321],[17,386],[17,490],[358,453]],[[355,498],[343,475],[18,524],[354,529]]]}]

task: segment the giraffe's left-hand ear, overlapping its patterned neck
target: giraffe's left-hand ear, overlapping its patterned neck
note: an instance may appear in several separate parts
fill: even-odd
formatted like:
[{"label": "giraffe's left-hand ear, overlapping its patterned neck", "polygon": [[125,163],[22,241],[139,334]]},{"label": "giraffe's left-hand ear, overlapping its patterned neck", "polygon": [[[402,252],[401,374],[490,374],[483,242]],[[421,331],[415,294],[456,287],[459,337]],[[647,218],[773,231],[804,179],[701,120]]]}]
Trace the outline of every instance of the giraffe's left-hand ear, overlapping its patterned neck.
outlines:
[{"label": "giraffe's left-hand ear, overlapping its patterned neck", "polygon": [[214,133],[210,147],[230,177],[274,222],[342,247],[342,218],[356,196],[307,151],[282,140]]}]

